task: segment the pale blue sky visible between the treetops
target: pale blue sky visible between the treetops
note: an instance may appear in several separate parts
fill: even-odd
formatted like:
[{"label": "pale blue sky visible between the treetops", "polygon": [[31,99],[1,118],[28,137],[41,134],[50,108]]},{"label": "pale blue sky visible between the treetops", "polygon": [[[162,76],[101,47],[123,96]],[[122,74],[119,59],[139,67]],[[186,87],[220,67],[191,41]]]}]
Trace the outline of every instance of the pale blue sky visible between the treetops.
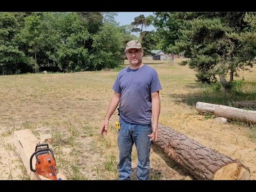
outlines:
[{"label": "pale blue sky visible between the treetops", "polygon": [[[149,15],[153,15],[153,12],[118,12],[116,21],[120,22],[120,25],[131,24],[131,22],[134,21],[134,18],[141,14],[144,14],[144,16],[147,17]],[[144,28],[144,26],[143,26],[143,28]],[[154,26],[150,25],[150,26],[146,27],[146,29],[144,28],[143,30],[152,31],[154,29],[155,29]],[[137,32],[133,32],[132,34],[139,36],[139,33],[137,33]]]}]

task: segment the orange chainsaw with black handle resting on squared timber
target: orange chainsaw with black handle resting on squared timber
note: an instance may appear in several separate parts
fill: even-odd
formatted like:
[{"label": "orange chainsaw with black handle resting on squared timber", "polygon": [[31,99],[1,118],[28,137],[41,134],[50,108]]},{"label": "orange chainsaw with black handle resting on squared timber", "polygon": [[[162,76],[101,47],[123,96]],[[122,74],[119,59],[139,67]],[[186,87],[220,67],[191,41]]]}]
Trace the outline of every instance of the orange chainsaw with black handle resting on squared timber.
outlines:
[{"label": "orange chainsaw with black handle resting on squared timber", "polygon": [[[34,156],[36,156],[36,169],[32,167],[32,159]],[[30,157],[30,170],[48,179],[57,180],[56,160],[52,149],[49,148],[47,143],[36,144],[35,152]]]}]

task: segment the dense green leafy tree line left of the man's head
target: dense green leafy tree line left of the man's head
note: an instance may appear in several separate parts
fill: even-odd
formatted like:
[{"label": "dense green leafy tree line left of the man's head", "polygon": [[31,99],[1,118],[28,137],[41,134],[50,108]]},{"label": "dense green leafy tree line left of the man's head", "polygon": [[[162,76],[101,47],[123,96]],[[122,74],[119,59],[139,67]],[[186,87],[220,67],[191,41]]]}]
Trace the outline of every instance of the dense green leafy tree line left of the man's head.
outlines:
[{"label": "dense green leafy tree line left of the man's head", "polygon": [[126,42],[115,12],[1,12],[0,75],[78,72],[123,63]]}]

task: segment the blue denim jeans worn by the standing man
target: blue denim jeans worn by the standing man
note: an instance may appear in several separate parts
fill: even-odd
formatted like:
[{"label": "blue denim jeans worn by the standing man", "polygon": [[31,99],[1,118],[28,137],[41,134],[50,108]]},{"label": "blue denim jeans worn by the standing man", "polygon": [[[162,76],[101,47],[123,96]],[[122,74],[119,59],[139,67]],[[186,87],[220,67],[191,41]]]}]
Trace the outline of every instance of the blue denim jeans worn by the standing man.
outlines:
[{"label": "blue denim jeans worn by the standing man", "polygon": [[152,133],[151,124],[134,124],[119,118],[120,130],[118,130],[119,180],[130,180],[132,172],[132,146],[135,143],[138,154],[137,179],[148,180],[149,156],[151,141],[149,134]]}]

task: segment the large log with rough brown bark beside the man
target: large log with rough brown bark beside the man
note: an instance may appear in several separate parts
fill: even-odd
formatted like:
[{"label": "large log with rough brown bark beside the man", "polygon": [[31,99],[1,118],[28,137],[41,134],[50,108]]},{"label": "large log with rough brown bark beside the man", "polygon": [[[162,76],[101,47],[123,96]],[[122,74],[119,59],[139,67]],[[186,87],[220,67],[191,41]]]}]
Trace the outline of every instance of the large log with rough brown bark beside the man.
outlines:
[{"label": "large log with rough brown bark beside the man", "polygon": [[158,125],[154,144],[199,180],[250,180],[250,169],[239,160],[207,148],[169,127]]}]

